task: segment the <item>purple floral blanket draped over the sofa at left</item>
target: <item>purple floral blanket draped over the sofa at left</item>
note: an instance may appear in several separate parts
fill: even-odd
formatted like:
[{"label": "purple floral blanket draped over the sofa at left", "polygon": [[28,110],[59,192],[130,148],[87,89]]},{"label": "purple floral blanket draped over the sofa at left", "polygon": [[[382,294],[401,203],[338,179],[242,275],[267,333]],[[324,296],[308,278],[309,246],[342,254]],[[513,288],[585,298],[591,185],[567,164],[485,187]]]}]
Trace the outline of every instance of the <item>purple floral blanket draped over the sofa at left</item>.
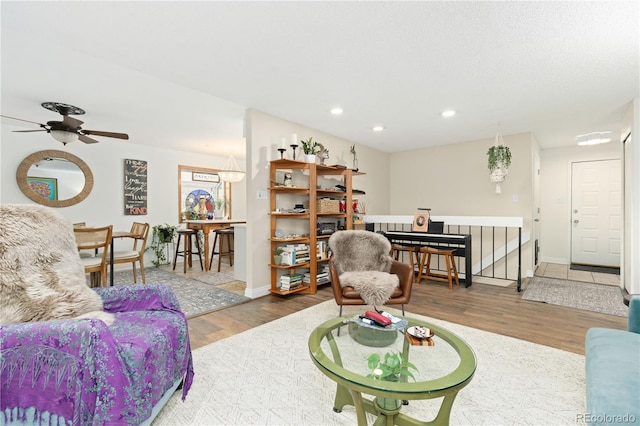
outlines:
[{"label": "purple floral blanket draped over the sofa at left", "polygon": [[140,424],[166,390],[193,381],[187,320],[162,284],[96,289],[100,320],[0,327],[0,424]]}]

